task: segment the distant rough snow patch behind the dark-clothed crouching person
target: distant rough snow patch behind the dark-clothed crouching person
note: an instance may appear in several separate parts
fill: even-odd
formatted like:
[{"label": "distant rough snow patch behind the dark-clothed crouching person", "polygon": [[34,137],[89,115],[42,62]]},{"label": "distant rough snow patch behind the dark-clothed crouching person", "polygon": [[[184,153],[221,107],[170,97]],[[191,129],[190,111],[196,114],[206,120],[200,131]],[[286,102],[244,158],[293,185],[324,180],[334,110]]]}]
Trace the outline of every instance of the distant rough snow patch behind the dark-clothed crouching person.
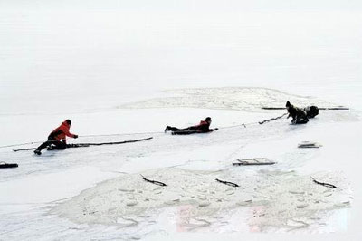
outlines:
[{"label": "distant rough snow patch behind the dark-clothed crouching person", "polygon": [[[284,107],[286,101],[304,107],[336,106],[310,96],[255,87],[195,88],[165,91],[172,97],[155,98],[120,105],[118,108],[203,108],[216,110],[261,111],[262,107]],[[175,96],[176,95],[176,96]]]}]

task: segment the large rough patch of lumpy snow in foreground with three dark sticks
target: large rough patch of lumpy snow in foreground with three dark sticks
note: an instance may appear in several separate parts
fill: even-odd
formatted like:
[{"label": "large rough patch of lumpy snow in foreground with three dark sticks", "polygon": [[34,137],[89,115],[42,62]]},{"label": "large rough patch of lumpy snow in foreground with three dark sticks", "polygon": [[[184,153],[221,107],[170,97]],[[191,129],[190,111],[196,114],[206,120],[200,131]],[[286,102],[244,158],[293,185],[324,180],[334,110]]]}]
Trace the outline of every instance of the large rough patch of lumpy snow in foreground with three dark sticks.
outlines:
[{"label": "large rough patch of lumpy snow in foreground with three dark sticks", "polygon": [[[167,187],[146,182],[140,174]],[[349,206],[350,189],[341,173],[317,173],[313,178],[338,188],[320,186],[294,171],[259,170],[255,175],[234,169],[153,169],[103,182],[54,207],[52,213],[78,223],[137,227],[155,223],[155,214],[174,207],[177,228],[213,231],[230,221],[230,212],[247,208],[247,217],[240,218],[253,231],[321,227],[330,210]]]}]

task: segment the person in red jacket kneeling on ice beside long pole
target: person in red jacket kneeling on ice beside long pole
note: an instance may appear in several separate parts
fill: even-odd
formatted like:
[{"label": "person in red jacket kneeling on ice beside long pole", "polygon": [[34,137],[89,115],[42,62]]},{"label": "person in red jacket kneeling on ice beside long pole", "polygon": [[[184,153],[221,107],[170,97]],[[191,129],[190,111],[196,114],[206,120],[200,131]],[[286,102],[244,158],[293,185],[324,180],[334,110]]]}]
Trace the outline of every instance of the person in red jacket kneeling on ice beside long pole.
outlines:
[{"label": "person in red jacket kneeling on ice beside long pole", "polygon": [[[71,128],[71,120],[65,120],[62,122],[57,129],[52,130],[52,133],[48,136],[48,140],[40,145],[37,149],[34,150],[34,153],[37,155],[42,155],[42,149],[66,149],[67,142],[66,137],[78,138],[78,135],[71,134],[69,132]],[[62,141],[61,141],[62,140]]]}]

